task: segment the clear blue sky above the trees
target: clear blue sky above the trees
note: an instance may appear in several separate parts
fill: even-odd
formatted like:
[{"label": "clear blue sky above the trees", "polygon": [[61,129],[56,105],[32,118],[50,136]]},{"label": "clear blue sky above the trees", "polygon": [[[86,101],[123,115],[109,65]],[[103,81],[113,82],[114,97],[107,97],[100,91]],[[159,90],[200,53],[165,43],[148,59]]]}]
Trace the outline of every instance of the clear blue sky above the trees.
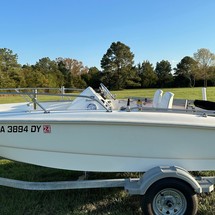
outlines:
[{"label": "clear blue sky above the trees", "polygon": [[215,53],[214,11],[214,0],[0,0],[0,48],[22,65],[62,57],[100,69],[120,41],[135,64],[175,67],[198,49]]}]

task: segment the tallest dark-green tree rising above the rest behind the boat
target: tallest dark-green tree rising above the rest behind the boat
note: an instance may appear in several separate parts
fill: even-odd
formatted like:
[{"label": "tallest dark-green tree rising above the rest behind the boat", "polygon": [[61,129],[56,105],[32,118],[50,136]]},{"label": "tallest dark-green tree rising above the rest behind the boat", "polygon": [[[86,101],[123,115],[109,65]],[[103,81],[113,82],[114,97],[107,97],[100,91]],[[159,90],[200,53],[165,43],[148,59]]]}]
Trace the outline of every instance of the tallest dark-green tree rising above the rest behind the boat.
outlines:
[{"label": "tallest dark-green tree rising above the rest behind the boat", "polygon": [[101,60],[102,81],[109,89],[124,89],[138,85],[134,69],[134,54],[121,42],[113,42]]}]

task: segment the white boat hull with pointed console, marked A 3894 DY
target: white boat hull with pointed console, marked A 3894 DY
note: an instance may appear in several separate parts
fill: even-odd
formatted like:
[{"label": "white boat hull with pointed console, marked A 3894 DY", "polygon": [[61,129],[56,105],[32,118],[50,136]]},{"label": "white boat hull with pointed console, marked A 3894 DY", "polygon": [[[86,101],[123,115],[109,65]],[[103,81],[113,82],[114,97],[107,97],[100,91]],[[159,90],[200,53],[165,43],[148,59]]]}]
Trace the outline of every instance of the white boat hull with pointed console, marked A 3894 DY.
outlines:
[{"label": "white boat hull with pointed console, marked A 3894 DY", "polygon": [[[103,91],[110,94],[102,85]],[[144,172],[215,169],[215,117],[206,111],[120,108],[87,88],[64,108],[0,105],[0,156],[46,167]],[[63,107],[63,104],[61,104]],[[45,110],[45,111],[44,111]]]}]

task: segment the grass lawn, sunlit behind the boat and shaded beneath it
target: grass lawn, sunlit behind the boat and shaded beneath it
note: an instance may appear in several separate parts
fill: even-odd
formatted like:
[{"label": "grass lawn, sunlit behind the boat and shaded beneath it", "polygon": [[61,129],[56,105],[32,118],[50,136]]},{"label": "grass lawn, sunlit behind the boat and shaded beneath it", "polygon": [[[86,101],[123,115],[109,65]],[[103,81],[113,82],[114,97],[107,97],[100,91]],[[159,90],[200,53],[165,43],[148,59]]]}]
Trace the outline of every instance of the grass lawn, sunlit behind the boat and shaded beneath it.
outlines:
[{"label": "grass lawn, sunlit behind the boat and shaded beneath it", "polygon": [[[215,88],[207,88],[208,100],[215,101]],[[201,99],[201,88],[164,89],[175,98]],[[153,97],[155,89],[114,91],[118,98]],[[44,98],[43,98],[44,99]],[[1,96],[0,101],[20,102],[19,96]],[[0,177],[25,181],[76,180],[82,172],[38,167],[0,159]],[[194,175],[215,175],[194,172]],[[137,177],[139,173],[90,173],[89,179]],[[215,192],[199,195],[199,215],[214,215]],[[28,191],[0,187],[0,215],[140,215],[140,196],[129,196],[121,188],[61,191]]]}]

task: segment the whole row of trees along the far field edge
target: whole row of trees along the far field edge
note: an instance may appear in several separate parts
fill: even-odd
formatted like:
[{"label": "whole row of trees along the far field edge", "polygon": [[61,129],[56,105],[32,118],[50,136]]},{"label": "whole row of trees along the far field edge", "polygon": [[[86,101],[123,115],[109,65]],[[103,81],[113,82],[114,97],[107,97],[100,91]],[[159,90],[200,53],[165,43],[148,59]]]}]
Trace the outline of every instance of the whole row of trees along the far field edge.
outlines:
[{"label": "whole row of trees along the far field edge", "polygon": [[134,65],[134,54],[121,42],[113,42],[101,59],[101,70],[88,68],[71,58],[49,57],[35,65],[20,65],[18,55],[0,48],[0,88],[61,87],[98,88],[100,82],[111,90],[128,88],[195,87],[215,85],[215,55],[198,49],[172,68],[168,60]]}]

